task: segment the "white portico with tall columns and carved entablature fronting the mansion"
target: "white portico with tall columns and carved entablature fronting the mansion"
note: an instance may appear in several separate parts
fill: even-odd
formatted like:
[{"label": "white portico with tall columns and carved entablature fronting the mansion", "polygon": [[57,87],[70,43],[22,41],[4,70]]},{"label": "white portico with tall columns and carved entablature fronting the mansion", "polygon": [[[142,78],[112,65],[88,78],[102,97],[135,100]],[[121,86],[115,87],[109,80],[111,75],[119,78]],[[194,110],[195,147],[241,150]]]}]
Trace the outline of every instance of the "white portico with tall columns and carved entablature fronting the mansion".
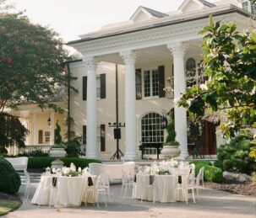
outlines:
[{"label": "white portico with tall columns and carved entablature fronting the mansion", "polygon": [[[104,121],[101,115],[103,121],[99,123],[97,105],[100,103],[97,102],[96,97],[96,75],[97,72],[100,72],[97,64],[101,65],[101,63],[106,62],[118,64],[119,68],[123,67],[125,82],[123,83],[123,103],[120,107],[123,107],[123,121],[126,124],[125,134],[123,134],[125,158],[139,158],[139,144],[143,138],[139,126],[144,114],[149,112],[161,114],[161,109],[169,111],[172,108],[175,111],[175,130],[177,141],[181,145],[182,158],[188,156],[187,114],[185,109],[177,107],[177,99],[186,88],[186,60],[190,57],[196,59],[197,63],[202,60],[200,49],[202,35],[198,35],[198,32],[208,23],[209,14],[212,13],[216,13],[216,8],[206,9],[204,13],[195,13],[193,19],[189,19],[191,13],[189,16],[185,13],[175,18],[164,16],[161,19],[152,19],[147,22],[128,23],[123,26],[101,29],[92,34],[81,35],[81,40],[68,43],[83,56],[84,70],[80,70],[79,75],[80,77],[83,75],[87,77],[87,100],[85,104],[84,102],[79,103],[80,107],[83,104],[86,110],[86,117],[84,117],[84,123],[86,124],[86,157],[95,158],[100,156],[96,146],[98,141],[97,125],[110,121]],[[230,10],[226,22],[236,20],[240,23],[239,16],[241,15]],[[215,17],[216,19],[222,18],[218,13]],[[146,98],[144,96],[141,101],[136,100],[136,69],[151,69],[160,65],[166,66],[164,67],[164,87],[170,85],[168,82],[173,77],[174,97]],[[153,76],[150,70],[148,72],[149,78],[152,79]],[[108,77],[107,74],[106,71],[106,77]],[[141,86],[144,86],[145,81],[144,78]],[[161,89],[161,86],[159,86],[157,92],[161,92]],[[145,92],[145,90],[144,87],[142,91]],[[109,103],[110,100],[107,100],[106,104]],[[147,109],[138,112],[142,104]],[[108,115],[107,109],[103,113]],[[111,115],[108,116],[108,119],[110,117]],[[106,135],[111,141],[112,136],[107,131]]]}]

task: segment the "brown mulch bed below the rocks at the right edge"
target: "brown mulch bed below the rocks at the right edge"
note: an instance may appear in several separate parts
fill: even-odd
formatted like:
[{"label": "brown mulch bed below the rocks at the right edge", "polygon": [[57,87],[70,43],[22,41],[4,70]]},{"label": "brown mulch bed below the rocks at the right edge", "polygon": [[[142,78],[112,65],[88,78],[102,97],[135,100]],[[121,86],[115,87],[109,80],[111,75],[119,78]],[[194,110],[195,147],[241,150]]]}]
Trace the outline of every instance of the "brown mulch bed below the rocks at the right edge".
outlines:
[{"label": "brown mulch bed below the rocks at the right edge", "polygon": [[224,182],[224,183],[210,183],[204,182],[204,187],[209,189],[219,189],[229,192],[231,194],[242,194],[256,197],[256,185],[253,183],[237,183],[237,182]]}]

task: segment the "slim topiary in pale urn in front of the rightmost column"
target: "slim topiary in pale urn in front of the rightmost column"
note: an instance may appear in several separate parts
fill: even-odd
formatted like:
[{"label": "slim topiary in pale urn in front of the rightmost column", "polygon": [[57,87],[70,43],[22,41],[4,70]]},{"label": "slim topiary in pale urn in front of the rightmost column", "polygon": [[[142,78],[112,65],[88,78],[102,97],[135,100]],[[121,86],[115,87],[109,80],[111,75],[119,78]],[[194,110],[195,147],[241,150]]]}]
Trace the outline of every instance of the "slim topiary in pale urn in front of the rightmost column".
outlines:
[{"label": "slim topiary in pale urn in front of the rightmost column", "polygon": [[170,114],[169,117],[169,124],[167,125],[168,135],[166,137],[166,142],[163,145],[163,149],[161,150],[161,154],[164,157],[172,158],[178,157],[181,154],[181,150],[178,147],[180,145],[179,142],[175,140],[176,132],[172,114]]}]

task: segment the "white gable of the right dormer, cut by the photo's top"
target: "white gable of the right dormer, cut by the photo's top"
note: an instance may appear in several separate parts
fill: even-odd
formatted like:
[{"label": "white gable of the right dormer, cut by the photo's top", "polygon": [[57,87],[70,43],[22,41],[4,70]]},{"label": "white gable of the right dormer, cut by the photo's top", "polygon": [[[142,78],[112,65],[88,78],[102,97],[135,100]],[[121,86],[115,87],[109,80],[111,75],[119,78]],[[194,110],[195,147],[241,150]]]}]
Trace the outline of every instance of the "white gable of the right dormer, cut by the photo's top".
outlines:
[{"label": "white gable of the right dormer, cut by the photo's top", "polygon": [[204,0],[185,0],[178,10],[182,11],[182,13],[189,13],[212,7],[215,7],[215,4]]}]

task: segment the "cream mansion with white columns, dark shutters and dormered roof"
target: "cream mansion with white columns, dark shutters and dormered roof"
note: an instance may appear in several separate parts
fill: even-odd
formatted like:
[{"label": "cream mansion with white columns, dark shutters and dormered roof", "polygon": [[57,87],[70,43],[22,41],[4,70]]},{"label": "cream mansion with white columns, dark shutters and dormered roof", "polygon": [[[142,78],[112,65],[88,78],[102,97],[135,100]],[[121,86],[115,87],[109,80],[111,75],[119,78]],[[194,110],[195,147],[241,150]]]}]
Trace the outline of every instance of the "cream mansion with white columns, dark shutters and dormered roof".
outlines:
[{"label": "cream mansion with white columns, dark shutters and dormered roof", "polygon": [[[186,86],[204,82],[199,68],[203,35],[198,32],[209,24],[210,14],[215,21],[235,23],[243,31],[250,17],[245,9],[254,11],[254,6],[238,0],[184,0],[177,11],[168,13],[139,7],[126,22],[106,25],[68,42],[81,55],[81,60],[68,64],[77,77],[72,86],[79,90],[70,92],[69,114],[74,119],[73,130],[84,136],[86,157],[112,157],[117,150],[113,130],[119,123],[118,145],[125,158],[139,158],[140,145],[161,146],[166,130],[161,129],[160,118],[162,111],[171,109],[182,157],[188,157],[187,113],[176,101]],[[166,87],[172,92],[166,93]],[[36,113],[28,114],[27,122],[33,125]],[[39,119],[40,114],[36,116]],[[48,116],[45,114],[45,121]],[[52,113],[51,120],[57,120],[54,116],[57,114]],[[34,127],[30,125],[37,134],[40,127],[35,122]],[[48,130],[51,138],[53,129]],[[215,125],[204,122],[204,154],[214,155],[223,143],[216,130]],[[30,144],[38,144],[38,135],[33,137]]]}]

